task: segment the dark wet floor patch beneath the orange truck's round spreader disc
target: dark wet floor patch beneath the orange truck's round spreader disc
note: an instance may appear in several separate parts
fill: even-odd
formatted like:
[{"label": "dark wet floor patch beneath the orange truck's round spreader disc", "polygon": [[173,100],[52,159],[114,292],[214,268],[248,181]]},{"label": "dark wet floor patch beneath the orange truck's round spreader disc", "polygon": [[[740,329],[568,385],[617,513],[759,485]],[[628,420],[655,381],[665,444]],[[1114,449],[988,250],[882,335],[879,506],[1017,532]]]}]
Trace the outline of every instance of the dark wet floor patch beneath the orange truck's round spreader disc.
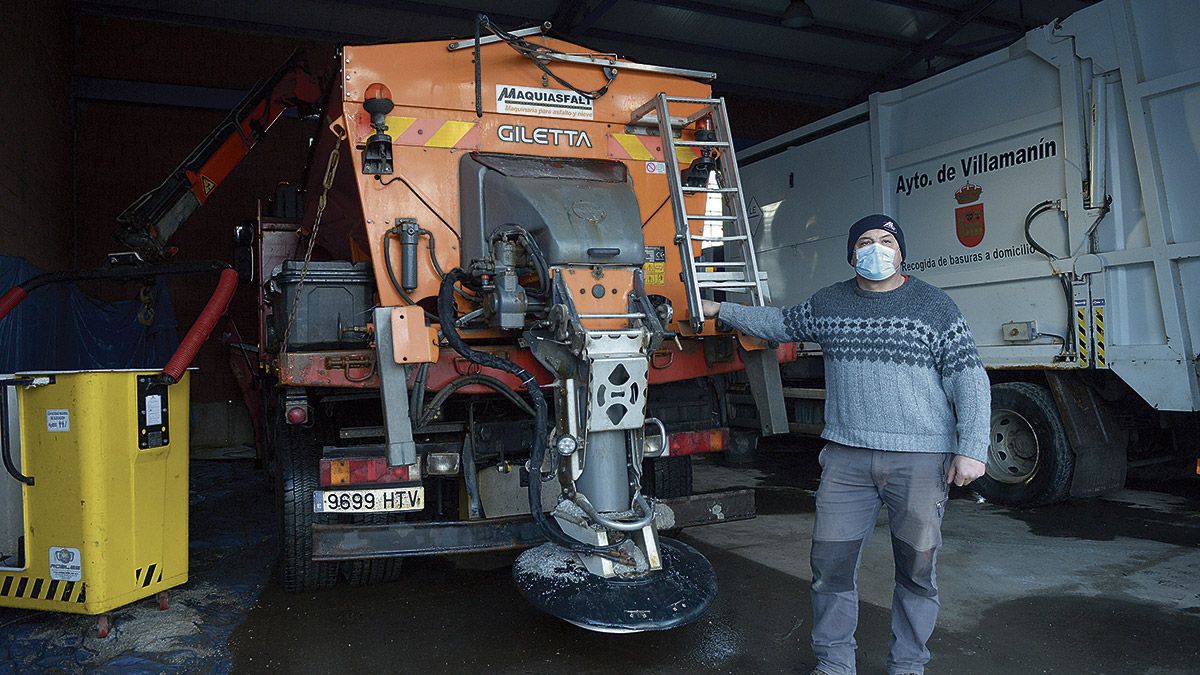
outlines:
[{"label": "dark wet floor patch beneath the orange truck's round spreader disc", "polygon": [[[689,543],[713,563],[718,596],[670,632],[593,633],[541,614],[511,581],[512,555],[492,556],[494,567],[414,558],[403,581],[373,589],[289,596],[272,585],[230,640],[235,670],[806,671],[806,585]],[[865,621],[878,629],[886,620],[874,614]]]}]

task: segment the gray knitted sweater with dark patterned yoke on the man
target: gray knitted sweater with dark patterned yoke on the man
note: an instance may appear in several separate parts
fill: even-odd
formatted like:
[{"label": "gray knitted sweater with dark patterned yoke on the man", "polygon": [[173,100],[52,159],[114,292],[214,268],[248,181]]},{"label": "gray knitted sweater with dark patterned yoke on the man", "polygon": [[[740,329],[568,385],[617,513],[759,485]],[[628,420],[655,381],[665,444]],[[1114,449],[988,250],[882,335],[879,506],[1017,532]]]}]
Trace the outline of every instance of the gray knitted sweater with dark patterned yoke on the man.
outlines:
[{"label": "gray knitted sweater with dark patterned yoke on the man", "polygon": [[908,277],[880,293],[851,279],[785,309],[721,303],[719,318],[767,340],[821,345],[827,441],[988,460],[988,375],[941,288]]}]

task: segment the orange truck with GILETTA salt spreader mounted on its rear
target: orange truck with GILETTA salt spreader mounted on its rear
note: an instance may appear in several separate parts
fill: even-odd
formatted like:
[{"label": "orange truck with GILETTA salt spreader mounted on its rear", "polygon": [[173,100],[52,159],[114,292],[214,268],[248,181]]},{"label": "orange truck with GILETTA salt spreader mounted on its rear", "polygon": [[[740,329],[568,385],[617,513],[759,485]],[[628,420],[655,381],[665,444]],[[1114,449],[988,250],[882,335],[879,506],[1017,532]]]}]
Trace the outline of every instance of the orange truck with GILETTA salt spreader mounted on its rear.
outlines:
[{"label": "orange truck with GILETTA salt spreader mounted on its rear", "polygon": [[545,611],[686,623],[716,579],[660,533],[754,515],[691,494],[691,455],[730,443],[716,381],[744,370],[785,431],[793,357],[698,312],[766,303],[715,76],[479,25],[344,47],[304,216],[242,232],[283,584],[526,548]]}]

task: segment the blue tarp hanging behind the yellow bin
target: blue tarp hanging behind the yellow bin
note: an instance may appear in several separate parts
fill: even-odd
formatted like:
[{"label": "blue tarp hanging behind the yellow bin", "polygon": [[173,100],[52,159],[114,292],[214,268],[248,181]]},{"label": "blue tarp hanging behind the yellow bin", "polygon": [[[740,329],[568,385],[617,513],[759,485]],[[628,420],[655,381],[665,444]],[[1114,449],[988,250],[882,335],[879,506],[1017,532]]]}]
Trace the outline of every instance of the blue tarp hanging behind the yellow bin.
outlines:
[{"label": "blue tarp hanging behind the yellow bin", "polygon": [[[0,294],[38,274],[24,258],[0,256]],[[74,283],[35,288],[0,319],[0,372],[162,368],[179,347],[162,279],[154,287],[150,325],[138,322],[142,306],[138,300],[101,303]]]}]

